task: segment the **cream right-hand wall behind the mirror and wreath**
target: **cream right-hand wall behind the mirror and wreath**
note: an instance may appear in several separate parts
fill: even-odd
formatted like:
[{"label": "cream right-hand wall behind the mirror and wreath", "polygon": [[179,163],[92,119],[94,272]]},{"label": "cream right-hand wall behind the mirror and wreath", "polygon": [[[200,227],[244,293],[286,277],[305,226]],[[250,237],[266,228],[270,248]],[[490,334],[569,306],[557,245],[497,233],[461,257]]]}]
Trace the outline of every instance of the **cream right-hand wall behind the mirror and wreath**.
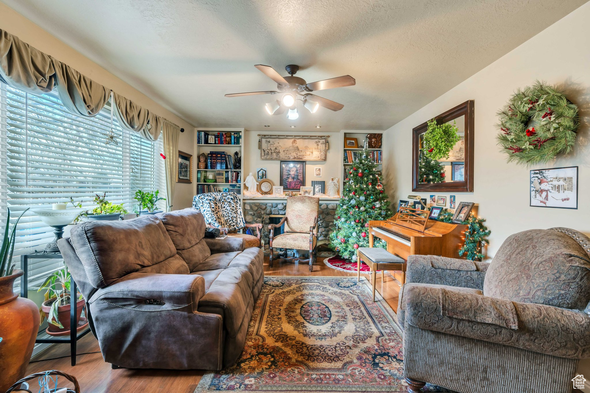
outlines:
[{"label": "cream right-hand wall behind the mirror and wreath", "polygon": [[[455,105],[475,100],[474,192],[451,194],[457,195],[457,203],[470,201],[479,204],[478,214],[487,220],[491,230],[488,256],[493,257],[507,236],[526,229],[565,226],[590,235],[588,20],[590,3],[389,128],[385,138],[389,152],[384,157],[385,188],[392,200],[406,199],[408,194],[412,194],[412,128]],[[537,79],[563,87],[569,100],[578,105],[581,127],[576,146],[573,153],[552,163],[530,168],[507,164],[504,154],[496,146],[496,111],[516,88],[533,84]],[[530,207],[529,170],[565,166],[579,167],[578,210]],[[422,195],[427,197],[428,194]],[[590,381],[590,359],[581,362],[578,372]],[[590,388],[590,385],[587,387]]]}]

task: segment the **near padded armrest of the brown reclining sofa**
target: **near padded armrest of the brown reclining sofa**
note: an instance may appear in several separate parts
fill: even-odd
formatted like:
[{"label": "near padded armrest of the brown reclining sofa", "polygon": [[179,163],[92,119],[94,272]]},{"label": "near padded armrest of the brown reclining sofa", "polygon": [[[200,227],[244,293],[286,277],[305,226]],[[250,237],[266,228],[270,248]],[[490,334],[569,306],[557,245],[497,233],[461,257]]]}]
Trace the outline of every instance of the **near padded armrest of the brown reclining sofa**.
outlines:
[{"label": "near padded armrest of the brown reclining sofa", "polygon": [[199,275],[131,273],[101,288],[89,303],[104,302],[135,311],[194,312],[205,294],[205,279]]}]

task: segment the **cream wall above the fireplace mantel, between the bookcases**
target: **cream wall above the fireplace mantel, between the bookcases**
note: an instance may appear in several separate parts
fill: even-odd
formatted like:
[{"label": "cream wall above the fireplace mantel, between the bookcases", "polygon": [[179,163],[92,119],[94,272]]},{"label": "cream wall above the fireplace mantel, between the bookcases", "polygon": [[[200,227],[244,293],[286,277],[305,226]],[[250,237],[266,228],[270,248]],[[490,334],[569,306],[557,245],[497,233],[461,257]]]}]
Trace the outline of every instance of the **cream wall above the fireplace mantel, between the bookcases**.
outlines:
[{"label": "cream wall above the fireplace mantel, between the bookcases", "polygon": [[[258,134],[264,135],[295,135],[295,136],[319,136],[329,135],[329,150],[327,151],[326,161],[306,161],[305,163],[305,185],[312,186],[312,180],[326,181],[326,186],[330,177],[342,177],[340,169],[342,168],[342,138],[340,133],[322,133],[321,131],[245,131],[245,149],[244,149],[244,179],[252,172],[256,177],[256,169],[266,168],[268,179],[272,180],[275,186],[280,186],[280,161],[261,160],[260,149],[258,148]],[[313,176],[313,169],[322,167],[322,177]],[[242,179],[243,180],[243,179]]]}]

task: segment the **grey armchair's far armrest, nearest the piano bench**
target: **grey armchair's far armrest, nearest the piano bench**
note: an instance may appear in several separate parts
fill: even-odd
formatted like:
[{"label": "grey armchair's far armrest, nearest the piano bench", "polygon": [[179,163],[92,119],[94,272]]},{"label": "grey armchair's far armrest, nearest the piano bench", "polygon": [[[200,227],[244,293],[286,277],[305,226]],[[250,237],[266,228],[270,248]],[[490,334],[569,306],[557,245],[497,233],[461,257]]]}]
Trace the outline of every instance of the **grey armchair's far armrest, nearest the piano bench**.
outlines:
[{"label": "grey armchair's far armrest, nearest the piano bench", "polygon": [[434,255],[410,255],[406,282],[461,286],[483,290],[483,281],[490,264],[466,259]]}]

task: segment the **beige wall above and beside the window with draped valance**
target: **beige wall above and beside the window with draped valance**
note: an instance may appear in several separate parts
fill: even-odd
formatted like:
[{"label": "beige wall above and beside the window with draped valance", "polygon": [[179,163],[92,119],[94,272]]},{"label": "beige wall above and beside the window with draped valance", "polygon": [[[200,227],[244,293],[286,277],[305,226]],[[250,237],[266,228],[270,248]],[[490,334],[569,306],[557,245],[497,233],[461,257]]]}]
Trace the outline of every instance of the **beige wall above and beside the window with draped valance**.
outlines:
[{"label": "beige wall above and beside the window with draped valance", "polygon": [[[187,123],[168,109],[162,107],[162,105],[156,103],[145,94],[140,93],[140,91],[137,91],[134,87],[123,82],[109,71],[104,70],[104,68],[101,68],[95,62],[89,60],[89,58],[84,57],[80,52],[75,51],[73,48],[64,44],[64,42],[53,37],[53,35],[2,3],[0,3],[0,27],[8,31],[10,34],[16,35],[18,38],[22,39],[22,41],[27,42],[27,44],[30,44],[40,51],[57,58],[57,60],[70,65],[70,67],[75,68],[77,71],[92,78],[94,81],[113,89],[124,97],[129,98],[129,100],[135,101],[138,105],[148,108],[156,114],[178,124],[185,129],[185,132],[181,133],[179,143],[181,150],[186,153],[193,153],[195,146],[194,128],[191,124]],[[191,206],[192,196],[195,194],[195,190],[194,183],[177,183],[173,209],[183,209],[184,207]]]}]

